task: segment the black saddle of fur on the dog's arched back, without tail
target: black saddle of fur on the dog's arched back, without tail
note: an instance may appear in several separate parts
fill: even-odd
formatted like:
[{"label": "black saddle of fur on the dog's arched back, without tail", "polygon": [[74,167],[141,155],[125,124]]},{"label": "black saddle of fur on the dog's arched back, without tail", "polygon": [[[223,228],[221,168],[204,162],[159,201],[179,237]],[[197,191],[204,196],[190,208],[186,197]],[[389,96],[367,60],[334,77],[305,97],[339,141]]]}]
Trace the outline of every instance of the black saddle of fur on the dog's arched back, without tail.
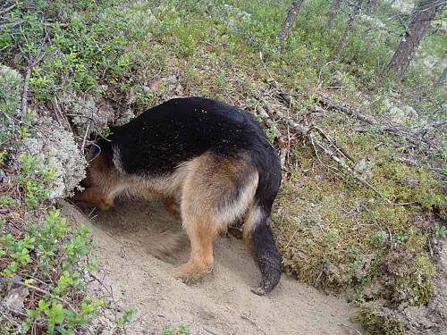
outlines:
[{"label": "black saddle of fur on the dog's arched back, without tail", "polygon": [[223,156],[253,152],[255,161],[273,151],[252,115],[200,97],[169,100],[111,131],[128,173],[169,173],[208,150]]}]

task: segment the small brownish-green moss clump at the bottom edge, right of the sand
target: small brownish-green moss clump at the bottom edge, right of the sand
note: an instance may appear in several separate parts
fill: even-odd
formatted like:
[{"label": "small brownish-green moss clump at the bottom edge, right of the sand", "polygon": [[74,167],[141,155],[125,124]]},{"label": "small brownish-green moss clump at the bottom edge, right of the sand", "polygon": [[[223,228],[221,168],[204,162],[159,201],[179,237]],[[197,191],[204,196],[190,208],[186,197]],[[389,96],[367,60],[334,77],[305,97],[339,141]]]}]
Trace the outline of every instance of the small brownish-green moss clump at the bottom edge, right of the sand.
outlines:
[{"label": "small brownish-green moss clump at the bottom edge, right of the sand", "polygon": [[401,320],[379,312],[371,304],[362,304],[352,315],[352,319],[359,322],[371,334],[405,334],[405,326]]}]

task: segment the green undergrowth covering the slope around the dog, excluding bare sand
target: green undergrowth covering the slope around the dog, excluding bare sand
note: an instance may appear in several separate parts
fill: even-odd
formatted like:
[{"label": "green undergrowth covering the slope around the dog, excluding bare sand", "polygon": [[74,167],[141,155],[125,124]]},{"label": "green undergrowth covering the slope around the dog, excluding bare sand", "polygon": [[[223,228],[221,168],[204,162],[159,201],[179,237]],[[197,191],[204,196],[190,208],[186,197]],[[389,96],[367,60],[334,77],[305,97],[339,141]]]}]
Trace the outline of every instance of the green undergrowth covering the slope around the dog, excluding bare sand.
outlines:
[{"label": "green undergrowth covering the slope around the dog, excluding bare sand", "polygon": [[[33,64],[24,115],[18,89],[23,79],[0,69],[1,167],[13,180],[2,183],[0,197],[2,277],[8,288],[30,292],[24,312],[2,323],[5,330],[77,331],[105,304],[82,293],[81,269],[92,261],[86,230],[66,227],[46,202],[55,172],[17,151],[24,138],[37,136],[33,122],[39,113],[60,105],[72,122],[71,104],[80,97],[138,114],[172,96],[208,96],[257,114],[263,96],[289,142],[274,211],[286,272],[319,288],[347,291],[361,303],[430,301],[436,272],[431,248],[446,236],[445,138],[439,122],[445,117],[445,91],[417,62],[401,82],[384,72],[402,32],[399,22],[384,15],[396,11],[390,4],[378,4],[381,29],[365,18],[354,22],[342,53],[348,12],[344,8],[326,30],[329,2],[323,0],[303,4],[280,52],[276,36],[288,5],[30,1],[2,16],[2,62],[23,74]],[[426,52],[442,57],[444,36],[429,34]],[[290,104],[283,104],[275,82],[291,95]],[[318,92],[374,115],[377,124],[321,108]],[[335,138],[353,156],[355,170],[387,201],[294,134],[287,118],[317,124]],[[391,121],[400,124],[401,133],[384,130]],[[411,142],[413,134],[430,145]],[[84,134],[75,135],[81,142]],[[274,131],[267,129],[266,135],[276,145]],[[45,293],[31,288],[36,285]],[[372,321],[375,314],[362,311],[368,330],[401,333],[400,324]],[[127,319],[120,319],[121,325]]]}]

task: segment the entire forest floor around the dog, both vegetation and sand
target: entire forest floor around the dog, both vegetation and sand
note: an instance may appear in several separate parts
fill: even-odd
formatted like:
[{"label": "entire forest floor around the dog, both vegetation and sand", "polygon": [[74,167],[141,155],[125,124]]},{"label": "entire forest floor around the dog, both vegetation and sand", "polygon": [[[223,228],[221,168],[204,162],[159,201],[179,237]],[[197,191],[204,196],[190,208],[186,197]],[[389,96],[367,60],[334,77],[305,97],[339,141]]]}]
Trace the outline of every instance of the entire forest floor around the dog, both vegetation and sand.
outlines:
[{"label": "entire forest floor around the dog, both vegetation and sand", "polygon": [[[109,298],[124,311],[117,329],[132,320],[130,333],[447,328],[446,91],[434,84],[445,31],[427,35],[400,81],[384,72],[399,43],[390,31],[401,29],[390,19],[401,10],[387,2],[346,31],[349,8],[326,29],[328,2],[307,1],[281,51],[289,1],[86,3],[14,4],[0,16],[0,295],[35,287],[21,314],[1,301],[0,332],[22,322],[84,330],[113,310]],[[429,67],[426,54],[436,59]],[[284,274],[268,297],[249,292],[257,268],[234,238],[216,243],[204,281],[173,280],[188,241],[154,204],[83,213],[65,203],[62,216],[78,227],[70,231],[51,209],[84,177],[92,136],[179,96],[254,114],[282,155],[272,220]],[[83,263],[95,256],[97,274]],[[104,301],[82,289],[92,275],[94,296],[112,288]]]}]

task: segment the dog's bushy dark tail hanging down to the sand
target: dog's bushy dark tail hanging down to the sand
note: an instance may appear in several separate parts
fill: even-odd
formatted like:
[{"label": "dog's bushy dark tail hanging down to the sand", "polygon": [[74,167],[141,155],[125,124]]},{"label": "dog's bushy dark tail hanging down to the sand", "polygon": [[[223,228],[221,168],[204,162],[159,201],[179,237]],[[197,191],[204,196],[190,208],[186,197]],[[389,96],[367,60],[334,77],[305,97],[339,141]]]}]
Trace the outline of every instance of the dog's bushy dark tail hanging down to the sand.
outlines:
[{"label": "dog's bushy dark tail hanging down to the sand", "polygon": [[281,278],[282,269],[282,258],[274,244],[271,227],[272,205],[281,185],[281,164],[275,153],[269,158],[257,164],[257,191],[244,223],[245,243],[261,271],[260,285],[252,289],[259,296],[274,289]]}]

